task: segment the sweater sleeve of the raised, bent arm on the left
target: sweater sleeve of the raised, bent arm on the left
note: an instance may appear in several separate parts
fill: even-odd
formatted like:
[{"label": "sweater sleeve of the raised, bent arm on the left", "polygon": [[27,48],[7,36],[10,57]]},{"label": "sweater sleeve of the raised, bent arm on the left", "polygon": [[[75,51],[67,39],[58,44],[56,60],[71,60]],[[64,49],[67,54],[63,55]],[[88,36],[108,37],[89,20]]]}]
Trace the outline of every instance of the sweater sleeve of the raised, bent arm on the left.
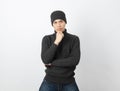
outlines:
[{"label": "sweater sleeve of the raised, bent arm on the left", "polygon": [[41,51],[41,59],[44,64],[49,64],[53,61],[56,50],[57,45],[55,45],[54,43],[50,45],[49,37],[45,36],[42,39],[42,51]]}]

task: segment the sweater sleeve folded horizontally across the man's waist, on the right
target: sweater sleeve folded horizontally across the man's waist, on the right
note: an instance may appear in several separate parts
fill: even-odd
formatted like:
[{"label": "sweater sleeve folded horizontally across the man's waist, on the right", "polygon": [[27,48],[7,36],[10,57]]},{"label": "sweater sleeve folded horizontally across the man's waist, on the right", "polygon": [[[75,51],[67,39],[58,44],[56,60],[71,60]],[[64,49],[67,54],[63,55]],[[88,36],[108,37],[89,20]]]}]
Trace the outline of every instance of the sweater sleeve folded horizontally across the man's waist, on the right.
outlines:
[{"label": "sweater sleeve folded horizontally across the man's waist, on the right", "polygon": [[76,37],[73,42],[72,51],[67,58],[56,59],[52,62],[53,66],[60,66],[60,67],[70,67],[76,66],[80,60],[80,41],[79,38]]}]

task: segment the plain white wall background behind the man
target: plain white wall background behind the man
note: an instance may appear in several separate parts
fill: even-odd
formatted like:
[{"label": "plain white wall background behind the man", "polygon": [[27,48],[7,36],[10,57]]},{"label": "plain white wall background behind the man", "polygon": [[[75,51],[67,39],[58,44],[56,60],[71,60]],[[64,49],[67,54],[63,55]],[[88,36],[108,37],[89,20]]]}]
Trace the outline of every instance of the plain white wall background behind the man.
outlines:
[{"label": "plain white wall background behind the man", "polygon": [[45,75],[41,40],[63,10],[80,38],[76,81],[81,91],[120,91],[119,0],[0,0],[0,91],[38,91]]}]

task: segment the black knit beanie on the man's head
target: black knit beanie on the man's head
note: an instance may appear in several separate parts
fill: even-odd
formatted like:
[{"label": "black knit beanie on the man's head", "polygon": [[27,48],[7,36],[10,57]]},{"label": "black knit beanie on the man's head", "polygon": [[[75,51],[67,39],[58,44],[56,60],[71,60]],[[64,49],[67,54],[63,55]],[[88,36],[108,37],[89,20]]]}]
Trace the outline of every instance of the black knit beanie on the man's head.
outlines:
[{"label": "black knit beanie on the man's head", "polygon": [[51,13],[51,24],[53,25],[54,20],[62,19],[67,23],[65,13],[63,11],[57,10]]}]

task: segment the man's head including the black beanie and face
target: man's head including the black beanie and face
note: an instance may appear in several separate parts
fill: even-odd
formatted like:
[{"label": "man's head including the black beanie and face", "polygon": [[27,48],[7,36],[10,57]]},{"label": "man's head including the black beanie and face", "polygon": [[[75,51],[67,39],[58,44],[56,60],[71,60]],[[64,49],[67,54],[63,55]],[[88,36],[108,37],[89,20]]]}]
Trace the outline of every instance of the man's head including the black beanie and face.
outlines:
[{"label": "man's head including the black beanie and face", "polygon": [[63,11],[57,10],[51,13],[51,24],[55,31],[64,31],[65,25],[67,23],[65,13]]}]

